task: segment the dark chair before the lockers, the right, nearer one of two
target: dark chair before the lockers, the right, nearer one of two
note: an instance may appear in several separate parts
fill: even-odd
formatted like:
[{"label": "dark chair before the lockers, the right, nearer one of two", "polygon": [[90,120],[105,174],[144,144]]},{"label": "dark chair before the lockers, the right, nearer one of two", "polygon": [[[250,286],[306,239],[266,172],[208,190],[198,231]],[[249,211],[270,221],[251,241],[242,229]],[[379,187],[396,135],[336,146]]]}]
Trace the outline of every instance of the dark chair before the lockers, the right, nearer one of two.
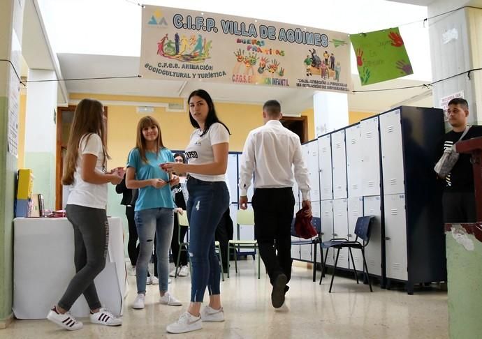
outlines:
[{"label": "dark chair before the lockers, the right, nearer one of two", "polygon": [[[321,278],[320,278],[320,285],[321,280],[323,279],[323,273],[325,272],[325,263],[326,258],[328,257],[328,251],[330,248],[337,249],[337,257],[335,259],[335,266],[333,266],[333,275],[331,276],[331,283],[330,283],[330,293],[331,287],[333,286],[333,278],[335,278],[335,271],[337,269],[338,263],[338,256],[339,250],[342,248],[348,248],[350,257],[351,257],[351,264],[353,265],[353,273],[355,273],[356,283],[358,284],[358,275],[356,273],[355,261],[353,260],[353,254],[351,253],[351,249],[355,248],[361,250],[362,257],[363,257],[363,273],[365,274],[365,278],[367,279],[368,285],[370,286],[370,292],[373,292],[372,283],[370,283],[370,275],[368,273],[367,262],[365,260],[365,247],[370,242],[370,227],[372,227],[372,221],[374,220],[374,216],[363,216],[358,217],[356,220],[355,226],[355,234],[356,238],[355,241],[349,241],[348,239],[344,238],[333,238],[330,241],[324,241],[321,243],[321,248],[326,248],[326,255],[325,260],[321,263]],[[363,240],[363,244],[358,241],[358,238]]]}]

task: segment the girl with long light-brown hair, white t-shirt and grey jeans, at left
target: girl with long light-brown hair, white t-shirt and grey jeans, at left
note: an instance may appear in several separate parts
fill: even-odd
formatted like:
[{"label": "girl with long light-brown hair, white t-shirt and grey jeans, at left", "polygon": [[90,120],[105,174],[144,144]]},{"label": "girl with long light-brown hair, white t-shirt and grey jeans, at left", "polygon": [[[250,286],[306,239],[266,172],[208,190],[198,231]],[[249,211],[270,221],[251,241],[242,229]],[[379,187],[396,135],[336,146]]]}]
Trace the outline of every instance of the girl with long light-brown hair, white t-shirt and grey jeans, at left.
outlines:
[{"label": "girl with long light-brown hair, white t-shirt and grey jeans, at left", "polygon": [[80,100],[68,138],[62,183],[71,185],[66,209],[67,219],[73,226],[77,273],[47,319],[71,331],[82,329],[82,322],[68,312],[81,294],[84,294],[91,310],[92,323],[107,326],[122,324],[122,318],[114,317],[102,307],[94,285],[94,278],[105,266],[108,249],[107,184],[116,185],[124,176],[123,169],[105,171],[105,161],[109,156],[105,149],[104,118],[101,103],[92,99]]}]

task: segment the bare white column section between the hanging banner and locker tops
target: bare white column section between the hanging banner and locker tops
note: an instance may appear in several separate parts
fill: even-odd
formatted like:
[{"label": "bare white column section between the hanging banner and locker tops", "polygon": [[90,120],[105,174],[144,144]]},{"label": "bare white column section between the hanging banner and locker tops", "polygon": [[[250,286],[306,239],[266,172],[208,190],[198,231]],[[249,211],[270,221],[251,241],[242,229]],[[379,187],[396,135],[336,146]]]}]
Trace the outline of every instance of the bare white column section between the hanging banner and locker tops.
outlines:
[{"label": "bare white column section between the hanging banner and locker tops", "polygon": [[348,126],[348,94],[316,92],[313,96],[313,107],[316,137]]}]

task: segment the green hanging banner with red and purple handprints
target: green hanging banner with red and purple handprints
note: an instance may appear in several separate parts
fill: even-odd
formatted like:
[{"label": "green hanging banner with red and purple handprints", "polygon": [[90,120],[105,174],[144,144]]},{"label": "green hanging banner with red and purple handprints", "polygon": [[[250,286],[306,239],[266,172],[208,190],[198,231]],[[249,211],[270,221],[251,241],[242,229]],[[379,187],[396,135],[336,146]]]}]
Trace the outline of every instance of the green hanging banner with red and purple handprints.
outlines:
[{"label": "green hanging banner with red and purple handprints", "polygon": [[398,28],[350,35],[362,86],[413,74]]}]

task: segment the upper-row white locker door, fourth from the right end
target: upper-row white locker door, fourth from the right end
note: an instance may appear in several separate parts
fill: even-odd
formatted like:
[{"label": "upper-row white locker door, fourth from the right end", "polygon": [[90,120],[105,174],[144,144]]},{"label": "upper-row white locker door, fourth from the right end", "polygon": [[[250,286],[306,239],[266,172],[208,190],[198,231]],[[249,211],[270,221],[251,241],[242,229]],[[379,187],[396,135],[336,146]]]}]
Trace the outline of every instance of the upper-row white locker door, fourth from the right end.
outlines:
[{"label": "upper-row white locker door, fourth from the right end", "polygon": [[344,199],[346,198],[345,130],[339,130],[331,135],[331,153],[333,159],[333,199]]}]

